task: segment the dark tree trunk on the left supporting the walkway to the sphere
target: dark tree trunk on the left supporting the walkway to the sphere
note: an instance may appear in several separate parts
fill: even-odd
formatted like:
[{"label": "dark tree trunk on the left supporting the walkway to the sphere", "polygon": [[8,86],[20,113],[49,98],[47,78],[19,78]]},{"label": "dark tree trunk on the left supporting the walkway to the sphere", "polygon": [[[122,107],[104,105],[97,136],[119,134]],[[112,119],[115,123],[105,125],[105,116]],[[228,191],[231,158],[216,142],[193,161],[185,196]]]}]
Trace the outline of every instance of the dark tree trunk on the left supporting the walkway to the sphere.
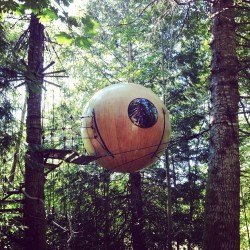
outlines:
[{"label": "dark tree trunk on the left supporting the walkway to the sphere", "polygon": [[26,249],[46,249],[44,166],[41,147],[41,87],[44,52],[44,27],[35,15],[30,20],[27,73],[27,144],[25,159],[25,242]]}]

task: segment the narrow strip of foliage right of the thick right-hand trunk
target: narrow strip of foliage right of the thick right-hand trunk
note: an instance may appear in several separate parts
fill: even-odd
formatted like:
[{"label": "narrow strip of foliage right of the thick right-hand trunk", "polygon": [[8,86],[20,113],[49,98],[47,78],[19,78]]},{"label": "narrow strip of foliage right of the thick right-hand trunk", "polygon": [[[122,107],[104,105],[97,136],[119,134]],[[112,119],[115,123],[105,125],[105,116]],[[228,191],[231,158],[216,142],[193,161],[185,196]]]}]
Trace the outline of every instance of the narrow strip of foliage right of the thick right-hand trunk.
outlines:
[{"label": "narrow strip of foliage right of the thick right-hand trunk", "polygon": [[239,57],[239,91],[241,95],[239,104],[239,121],[240,121],[240,162],[241,162],[241,220],[240,220],[240,232],[241,232],[241,249],[249,248],[249,3],[236,1],[236,38],[237,38],[237,53]]}]

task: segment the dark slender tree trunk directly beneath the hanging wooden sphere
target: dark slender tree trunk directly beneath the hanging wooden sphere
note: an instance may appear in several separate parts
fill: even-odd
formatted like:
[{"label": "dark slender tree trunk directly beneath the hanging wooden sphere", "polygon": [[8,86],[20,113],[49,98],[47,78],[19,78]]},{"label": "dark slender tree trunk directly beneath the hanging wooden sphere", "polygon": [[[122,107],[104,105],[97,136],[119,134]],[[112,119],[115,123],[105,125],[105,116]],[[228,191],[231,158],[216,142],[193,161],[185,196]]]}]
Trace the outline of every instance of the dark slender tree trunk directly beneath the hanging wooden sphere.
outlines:
[{"label": "dark slender tree trunk directly beneath the hanging wooden sphere", "polygon": [[141,174],[139,172],[129,175],[131,194],[131,233],[133,250],[146,250],[144,238],[144,216],[141,195]]}]

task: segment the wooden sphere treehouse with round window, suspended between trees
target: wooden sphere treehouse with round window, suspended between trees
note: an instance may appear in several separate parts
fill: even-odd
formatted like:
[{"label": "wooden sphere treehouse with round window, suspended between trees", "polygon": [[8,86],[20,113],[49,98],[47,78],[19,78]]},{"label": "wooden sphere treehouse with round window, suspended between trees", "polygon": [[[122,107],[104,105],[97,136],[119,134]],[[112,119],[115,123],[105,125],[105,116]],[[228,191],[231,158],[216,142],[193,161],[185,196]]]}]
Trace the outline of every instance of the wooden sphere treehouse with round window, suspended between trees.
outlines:
[{"label": "wooden sphere treehouse with round window, suspended between trees", "polygon": [[150,166],[163,153],[169,136],[165,105],[138,84],[108,86],[97,92],[84,110],[84,146],[111,171],[132,173]]}]

